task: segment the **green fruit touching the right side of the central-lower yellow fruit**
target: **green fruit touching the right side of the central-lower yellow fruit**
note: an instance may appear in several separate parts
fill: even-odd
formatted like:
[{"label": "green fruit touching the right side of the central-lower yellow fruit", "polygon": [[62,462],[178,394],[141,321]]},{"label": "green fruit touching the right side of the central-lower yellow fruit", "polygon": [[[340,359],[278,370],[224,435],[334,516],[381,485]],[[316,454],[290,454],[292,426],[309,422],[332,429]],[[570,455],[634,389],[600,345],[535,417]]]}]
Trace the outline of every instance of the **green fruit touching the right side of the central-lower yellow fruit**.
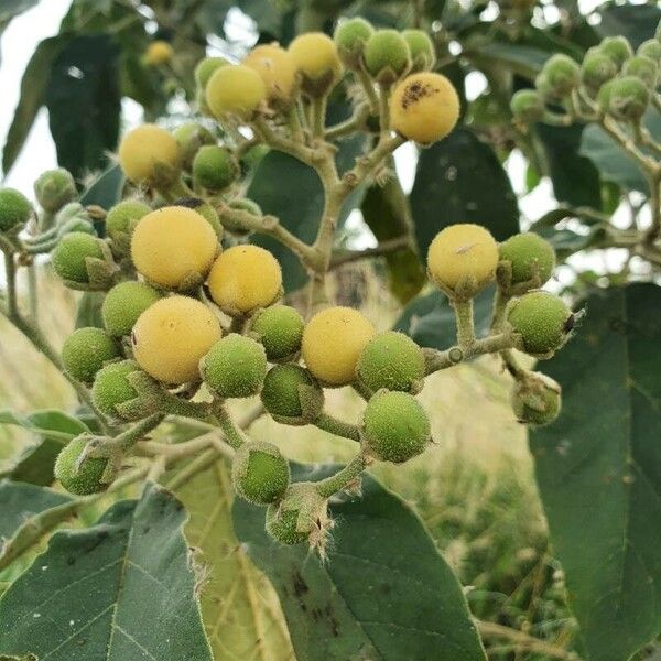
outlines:
[{"label": "green fruit touching the right side of the central-lower yellow fruit", "polygon": [[403,333],[372,337],[360,354],[356,373],[370,390],[419,391],[424,378],[422,349]]}]

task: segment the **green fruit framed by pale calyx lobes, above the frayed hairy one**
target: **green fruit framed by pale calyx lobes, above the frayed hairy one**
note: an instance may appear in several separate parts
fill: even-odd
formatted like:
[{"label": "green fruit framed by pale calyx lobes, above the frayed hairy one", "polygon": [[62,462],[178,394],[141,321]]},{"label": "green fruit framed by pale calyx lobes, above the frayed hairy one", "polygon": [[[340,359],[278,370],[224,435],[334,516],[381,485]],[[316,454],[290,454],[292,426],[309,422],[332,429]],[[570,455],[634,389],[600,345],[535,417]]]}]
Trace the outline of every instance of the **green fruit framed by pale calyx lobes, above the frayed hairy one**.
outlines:
[{"label": "green fruit framed by pale calyx lobes, above the frayed hairy one", "polygon": [[288,460],[272,443],[243,443],[231,464],[236,492],[253,505],[280,500],[290,485]]}]

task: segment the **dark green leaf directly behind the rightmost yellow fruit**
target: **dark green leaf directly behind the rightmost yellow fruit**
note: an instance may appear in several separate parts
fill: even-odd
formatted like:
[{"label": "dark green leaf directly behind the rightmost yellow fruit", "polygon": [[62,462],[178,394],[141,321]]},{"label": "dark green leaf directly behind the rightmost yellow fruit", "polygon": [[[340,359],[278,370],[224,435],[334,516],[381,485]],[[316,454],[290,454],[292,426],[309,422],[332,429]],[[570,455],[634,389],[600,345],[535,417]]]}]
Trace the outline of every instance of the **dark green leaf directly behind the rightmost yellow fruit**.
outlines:
[{"label": "dark green leaf directly behind the rightmost yellow fruit", "polygon": [[460,128],[420,154],[411,191],[418,251],[456,223],[484,225],[502,241],[519,231],[511,183],[494,150]]}]

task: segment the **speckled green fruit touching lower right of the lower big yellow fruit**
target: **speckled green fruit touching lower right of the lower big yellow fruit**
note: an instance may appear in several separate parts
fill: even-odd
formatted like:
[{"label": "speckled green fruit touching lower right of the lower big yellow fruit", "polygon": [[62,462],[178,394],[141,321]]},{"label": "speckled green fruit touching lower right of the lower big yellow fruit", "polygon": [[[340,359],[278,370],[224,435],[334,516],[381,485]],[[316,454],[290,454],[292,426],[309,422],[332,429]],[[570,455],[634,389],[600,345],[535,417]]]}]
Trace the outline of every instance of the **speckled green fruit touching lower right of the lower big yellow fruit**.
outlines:
[{"label": "speckled green fruit touching lower right of the lower big yellow fruit", "polygon": [[252,397],[267,376],[267,354],[254,339],[231,333],[202,359],[205,383],[221,398]]}]

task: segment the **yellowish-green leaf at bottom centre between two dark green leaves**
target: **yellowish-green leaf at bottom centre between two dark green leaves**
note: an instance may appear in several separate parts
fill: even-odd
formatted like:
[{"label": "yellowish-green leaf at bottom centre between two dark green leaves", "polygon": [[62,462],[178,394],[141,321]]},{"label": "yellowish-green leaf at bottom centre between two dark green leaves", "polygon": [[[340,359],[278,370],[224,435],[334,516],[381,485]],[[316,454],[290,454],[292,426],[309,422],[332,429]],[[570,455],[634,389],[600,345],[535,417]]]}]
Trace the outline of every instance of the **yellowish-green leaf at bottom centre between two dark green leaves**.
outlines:
[{"label": "yellowish-green leaf at bottom centre between two dark green leaves", "polygon": [[186,539],[205,567],[202,616],[215,658],[293,658],[278,597],[234,533],[234,490],[225,463],[197,474],[176,495],[191,513]]}]

